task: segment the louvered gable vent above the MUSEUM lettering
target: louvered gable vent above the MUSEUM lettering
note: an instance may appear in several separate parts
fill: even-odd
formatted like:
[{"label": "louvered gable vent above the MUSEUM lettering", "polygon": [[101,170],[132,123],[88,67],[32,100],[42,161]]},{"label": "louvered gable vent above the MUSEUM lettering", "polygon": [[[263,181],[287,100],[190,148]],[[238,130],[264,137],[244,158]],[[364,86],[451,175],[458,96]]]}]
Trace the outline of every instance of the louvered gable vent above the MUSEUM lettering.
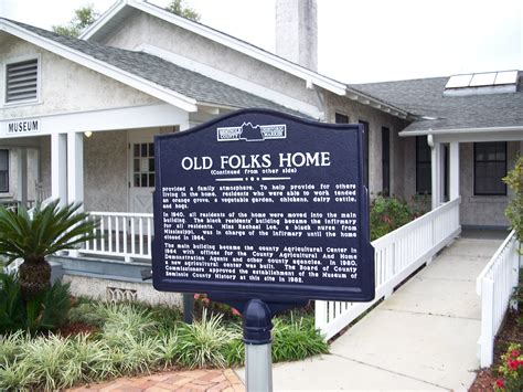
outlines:
[{"label": "louvered gable vent above the MUSEUM lettering", "polygon": [[39,85],[39,59],[6,65],[6,103],[35,100]]}]

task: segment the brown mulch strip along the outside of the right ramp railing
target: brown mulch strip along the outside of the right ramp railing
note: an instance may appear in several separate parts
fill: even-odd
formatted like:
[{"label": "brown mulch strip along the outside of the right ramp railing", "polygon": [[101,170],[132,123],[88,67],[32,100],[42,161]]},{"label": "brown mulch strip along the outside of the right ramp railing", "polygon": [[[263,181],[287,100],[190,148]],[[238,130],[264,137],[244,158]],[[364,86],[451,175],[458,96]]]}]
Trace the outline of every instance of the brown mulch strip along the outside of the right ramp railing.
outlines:
[{"label": "brown mulch strip along the outside of the right ramp railing", "polygon": [[478,377],[470,386],[469,392],[492,391],[498,379],[501,356],[506,352],[510,343],[523,346],[523,325],[517,325],[519,316],[521,316],[521,309],[506,315],[504,325],[494,341],[494,363],[488,369],[478,371]]}]

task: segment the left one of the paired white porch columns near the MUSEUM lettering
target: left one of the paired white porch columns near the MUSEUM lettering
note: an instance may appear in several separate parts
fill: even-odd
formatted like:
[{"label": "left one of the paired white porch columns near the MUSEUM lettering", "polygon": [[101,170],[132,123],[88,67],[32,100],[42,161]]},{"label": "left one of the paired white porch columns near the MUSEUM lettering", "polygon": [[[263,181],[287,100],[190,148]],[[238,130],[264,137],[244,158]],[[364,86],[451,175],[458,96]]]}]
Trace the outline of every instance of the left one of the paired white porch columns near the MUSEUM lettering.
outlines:
[{"label": "left one of the paired white porch columns near the MUSEUM lettering", "polygon": [[67,135],[51,135],[51,197],[67,202]]}]

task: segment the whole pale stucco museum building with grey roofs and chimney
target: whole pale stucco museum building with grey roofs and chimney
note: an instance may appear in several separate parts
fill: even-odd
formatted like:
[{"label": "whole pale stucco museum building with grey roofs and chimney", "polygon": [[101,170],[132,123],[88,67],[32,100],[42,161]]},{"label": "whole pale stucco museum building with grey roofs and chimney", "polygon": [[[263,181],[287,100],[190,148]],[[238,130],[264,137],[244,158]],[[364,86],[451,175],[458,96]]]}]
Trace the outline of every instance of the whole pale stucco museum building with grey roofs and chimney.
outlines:
[{"label": "whole pale stucco museum building with grey roofs and chimney", "polygon": [[[79,40],[0,19],[0,200],[82,201],[105,216],[115,237],[63,258],[78,289],[94,277],[125,295],[139,285],[153,135],[238,108],[360,121],[373,194],[428,192],[433,206],[461,195],[463,225],[508,225],[501,177],[523,150],[521,72],[346,85],[316,72],[316,2],[277,12],[279,55],[138,0],[117,1]],[[84,259],[94,255],[104,261]]]}]

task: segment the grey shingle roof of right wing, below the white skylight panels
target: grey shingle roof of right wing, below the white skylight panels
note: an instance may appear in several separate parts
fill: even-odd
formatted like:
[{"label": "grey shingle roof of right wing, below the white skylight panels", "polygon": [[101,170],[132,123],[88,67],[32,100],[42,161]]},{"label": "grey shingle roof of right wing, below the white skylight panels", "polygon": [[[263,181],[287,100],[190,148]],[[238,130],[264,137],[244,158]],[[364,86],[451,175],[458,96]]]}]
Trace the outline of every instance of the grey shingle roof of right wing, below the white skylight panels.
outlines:
[{"label": "grey shingle roof of right wing, below the white skylight panels", "polygon": [[[520,85],[523,76],[520,72]],[[523,92],[444,96],[448,77],[354,84],[351,87],[408,110],[419,119],[406,131],[523,126]],[[421,117],[436,119],[423,119]]]}]

